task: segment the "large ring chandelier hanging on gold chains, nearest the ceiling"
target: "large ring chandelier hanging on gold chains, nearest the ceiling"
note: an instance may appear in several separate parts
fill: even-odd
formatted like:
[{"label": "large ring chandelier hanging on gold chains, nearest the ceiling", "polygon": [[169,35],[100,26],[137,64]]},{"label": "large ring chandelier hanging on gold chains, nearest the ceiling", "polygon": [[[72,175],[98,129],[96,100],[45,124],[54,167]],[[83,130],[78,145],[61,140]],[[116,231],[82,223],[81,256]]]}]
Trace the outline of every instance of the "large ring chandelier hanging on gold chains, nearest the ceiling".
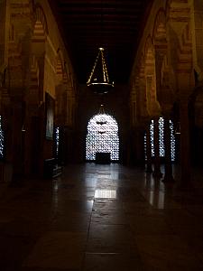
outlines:
[{"label": "large ring chandelier hanging on gold chains, nearest the ceiling", "polygon": [[106,94],[114,88],[114,82],[108,78],[104,51],[104,48],[98,48],[97,58],[87,82],[88,87],[97,94]]}]

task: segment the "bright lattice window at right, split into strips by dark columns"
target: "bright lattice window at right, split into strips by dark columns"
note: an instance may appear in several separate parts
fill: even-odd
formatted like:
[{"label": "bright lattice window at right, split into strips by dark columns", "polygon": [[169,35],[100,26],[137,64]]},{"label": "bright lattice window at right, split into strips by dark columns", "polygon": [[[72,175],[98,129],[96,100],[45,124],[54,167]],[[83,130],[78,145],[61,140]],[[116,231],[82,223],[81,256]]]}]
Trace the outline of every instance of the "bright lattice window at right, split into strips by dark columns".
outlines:
[{"label": "bright lattice window at right, split into strips by dark columns", "polygon": [[[170,120],[170,129],[171,129],[171,161],[175,161],[175,136],[173,123]],[[151,146],[152,146],[152,157],[154,156],[154,145],[153,145],[153,120],[150,125],[150,135],[151,135]],[[159,118],[159,142],[160,142],[160,157],[165,156],[165,146],[164,146],[164,118]],[[144,150],[146,157],[146,135],[144,135]]]}]

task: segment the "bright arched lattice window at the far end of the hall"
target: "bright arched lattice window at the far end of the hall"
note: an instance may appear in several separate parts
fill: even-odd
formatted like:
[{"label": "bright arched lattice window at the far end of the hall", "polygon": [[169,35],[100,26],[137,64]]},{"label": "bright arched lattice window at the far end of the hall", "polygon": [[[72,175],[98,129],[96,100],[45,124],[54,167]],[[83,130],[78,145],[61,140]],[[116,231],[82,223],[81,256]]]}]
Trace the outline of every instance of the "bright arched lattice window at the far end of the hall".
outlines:
[{"label": "bright arched lattice window at the far end of the hall", "polygon": [[96,153],[110,153],[111,161],[119,159],[118,126],[114,117],[98,114],[88,122],[86,159],[96,160]]}]

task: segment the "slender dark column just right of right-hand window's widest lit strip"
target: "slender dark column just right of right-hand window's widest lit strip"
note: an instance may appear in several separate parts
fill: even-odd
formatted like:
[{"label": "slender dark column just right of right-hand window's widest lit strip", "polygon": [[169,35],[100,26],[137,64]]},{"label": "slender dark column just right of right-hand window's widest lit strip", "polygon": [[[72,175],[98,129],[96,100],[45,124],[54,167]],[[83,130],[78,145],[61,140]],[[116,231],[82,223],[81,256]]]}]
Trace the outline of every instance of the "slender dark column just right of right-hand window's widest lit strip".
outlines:
[{"label": "slender dark column just right of right-hand window's widest lit strip", "polygon": [[170,117],[164,117],[165,174],[162,182],[174,182],[171,164],[171,128]]}]

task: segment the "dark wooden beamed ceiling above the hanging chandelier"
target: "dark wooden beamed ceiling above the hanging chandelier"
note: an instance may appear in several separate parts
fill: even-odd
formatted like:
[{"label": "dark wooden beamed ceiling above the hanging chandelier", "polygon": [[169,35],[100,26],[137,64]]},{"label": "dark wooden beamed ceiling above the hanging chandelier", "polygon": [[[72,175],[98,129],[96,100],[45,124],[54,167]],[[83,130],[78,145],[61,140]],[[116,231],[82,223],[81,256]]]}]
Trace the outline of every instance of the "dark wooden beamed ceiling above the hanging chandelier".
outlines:
[{"label": "dark wooden beamed ceiling above the hanging chandelier", "polygon": [[126,83],[152,0],[50,0],[78,81],[86,83],[99,47],[109,77]]}]

